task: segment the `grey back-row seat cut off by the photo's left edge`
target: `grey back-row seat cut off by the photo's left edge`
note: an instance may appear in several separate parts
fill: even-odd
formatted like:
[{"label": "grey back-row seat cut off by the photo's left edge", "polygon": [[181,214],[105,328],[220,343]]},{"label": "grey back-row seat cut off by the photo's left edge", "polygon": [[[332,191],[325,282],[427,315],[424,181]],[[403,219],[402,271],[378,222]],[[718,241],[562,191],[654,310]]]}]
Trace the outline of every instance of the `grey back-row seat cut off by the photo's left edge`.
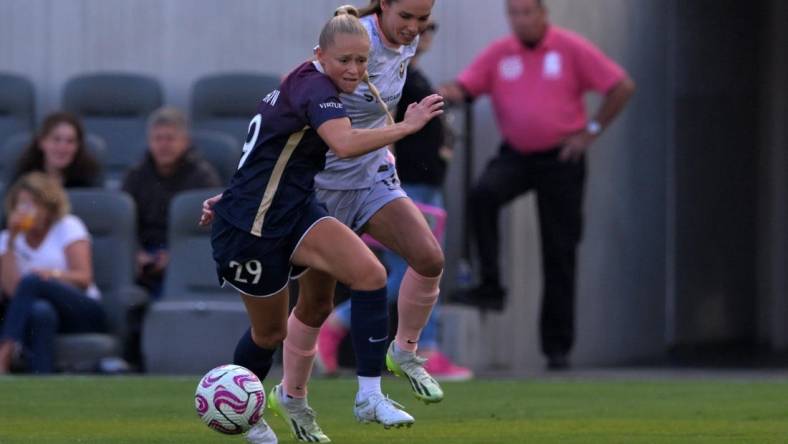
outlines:
[{"label": "grey back-row seat cut off by the photo's left edge", "polygon": [[22,76],[0,73],[0,145],[13,134],[32,131],[33,84]]}]

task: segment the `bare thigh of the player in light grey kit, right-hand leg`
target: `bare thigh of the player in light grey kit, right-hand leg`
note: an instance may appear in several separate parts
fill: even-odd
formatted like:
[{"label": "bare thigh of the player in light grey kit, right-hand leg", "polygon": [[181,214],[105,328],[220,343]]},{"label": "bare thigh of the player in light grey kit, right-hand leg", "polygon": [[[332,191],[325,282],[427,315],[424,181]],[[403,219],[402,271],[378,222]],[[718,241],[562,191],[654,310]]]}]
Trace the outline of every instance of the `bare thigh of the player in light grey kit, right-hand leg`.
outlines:
[{"label": "bare thigh of the player in light grey kit, right-hand leg", "polygon": [[427,220],[410,199],[396,199],[378,210],[366,232],[423,276],[437,276],[443,269],[443,251]]}]

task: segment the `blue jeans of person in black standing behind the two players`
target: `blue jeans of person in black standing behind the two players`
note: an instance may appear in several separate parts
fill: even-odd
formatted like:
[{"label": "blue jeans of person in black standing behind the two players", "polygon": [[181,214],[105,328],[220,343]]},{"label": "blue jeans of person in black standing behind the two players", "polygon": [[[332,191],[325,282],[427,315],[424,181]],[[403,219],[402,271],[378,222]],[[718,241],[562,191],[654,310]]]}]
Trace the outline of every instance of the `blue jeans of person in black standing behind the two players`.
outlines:
[{"label": "blue jeans of person in black standing behind the two players", "polygon": [[[408,193],[408,197],[415,202],[443,208],[443,193],[439,187],[403,183],[402,188]],[[388,267],[389,272],[386,282],[386,293],[389,302],[394,303],[397,301],[399,286],[408,269],[408,263],[399,255],[389,250],[383,252],[383,262]],[[438,312],[438,305],[436,304],[419,338],[419,347],[423,349],[435,349],[438,347]],[[349,327],[350,300],[348,299],[337,305],[334,309],[334,314],[345,327]]]}]

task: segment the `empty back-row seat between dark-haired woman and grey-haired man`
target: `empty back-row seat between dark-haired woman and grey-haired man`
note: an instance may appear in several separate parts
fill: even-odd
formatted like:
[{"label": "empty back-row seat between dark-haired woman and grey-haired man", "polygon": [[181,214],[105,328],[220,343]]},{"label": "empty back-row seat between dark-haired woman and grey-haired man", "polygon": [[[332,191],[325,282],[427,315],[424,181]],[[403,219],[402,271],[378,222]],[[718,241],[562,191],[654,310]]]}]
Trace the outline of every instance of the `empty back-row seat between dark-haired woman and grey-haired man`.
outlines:
[{"label": "empty back-row seat between dark-haired woman and grey-haired man", "polygon": [[63,90],[63,109],[78,115],[88,132],[107,142],[104,170],[112,188],[142,158],[148,115],[161,105],[159,82],[136,74],[77,76]]}]

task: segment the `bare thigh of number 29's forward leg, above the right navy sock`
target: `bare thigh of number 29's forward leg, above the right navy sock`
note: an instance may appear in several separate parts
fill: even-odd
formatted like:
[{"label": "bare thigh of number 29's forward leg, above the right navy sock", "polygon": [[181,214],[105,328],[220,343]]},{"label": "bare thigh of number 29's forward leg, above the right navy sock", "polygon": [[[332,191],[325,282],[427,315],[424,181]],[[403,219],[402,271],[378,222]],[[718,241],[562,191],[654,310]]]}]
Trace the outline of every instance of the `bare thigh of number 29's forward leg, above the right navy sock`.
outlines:
[{"label": "bare thigh of number 29's forward leg, above the right navy sock", "polygon": [[[386,272],[380,261],[350,228],[334,218],[317,222],[293,253],[292,262],[325,272],[357,290],[372,290]],[[373,288],[361,288],[370,287]]]}]

